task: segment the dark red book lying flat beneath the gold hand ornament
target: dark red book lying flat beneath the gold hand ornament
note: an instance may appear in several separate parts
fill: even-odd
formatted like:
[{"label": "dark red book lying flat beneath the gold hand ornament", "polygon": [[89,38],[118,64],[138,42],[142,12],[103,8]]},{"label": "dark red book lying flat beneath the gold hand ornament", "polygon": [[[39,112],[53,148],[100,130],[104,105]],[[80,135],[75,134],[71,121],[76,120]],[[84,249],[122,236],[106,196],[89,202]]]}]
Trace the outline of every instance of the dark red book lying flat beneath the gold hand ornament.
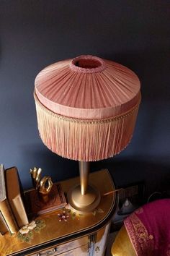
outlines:
[{"label": "dark red book lying flat beneath the gold hand ornament", "polygon": [[61,184],[53,184],[48,202],[41,200],[40,194],[36,189],[27,191],[25,198],[27,200],[28,212],[34,216],[63,208],[67,204],[66,197],[61,189]]}]

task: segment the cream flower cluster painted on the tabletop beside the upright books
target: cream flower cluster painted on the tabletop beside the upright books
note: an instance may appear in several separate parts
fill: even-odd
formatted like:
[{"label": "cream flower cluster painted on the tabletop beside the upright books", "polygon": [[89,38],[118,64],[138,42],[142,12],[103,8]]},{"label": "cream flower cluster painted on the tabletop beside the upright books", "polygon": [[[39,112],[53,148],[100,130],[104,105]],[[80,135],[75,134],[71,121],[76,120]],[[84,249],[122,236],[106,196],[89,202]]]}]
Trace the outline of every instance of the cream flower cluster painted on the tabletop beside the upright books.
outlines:
[{"label": "cream flower cluster painted on the tabletop beside the upright books", "polygon": [[34,232],[40,233],[40,230],[44,229],[45,226],[45,221],[39,218],[36,221],[32,221],[31,223],[23,226],[22,229],[19,229],[17,237],[22,242],[30,243],[34,238]]}]

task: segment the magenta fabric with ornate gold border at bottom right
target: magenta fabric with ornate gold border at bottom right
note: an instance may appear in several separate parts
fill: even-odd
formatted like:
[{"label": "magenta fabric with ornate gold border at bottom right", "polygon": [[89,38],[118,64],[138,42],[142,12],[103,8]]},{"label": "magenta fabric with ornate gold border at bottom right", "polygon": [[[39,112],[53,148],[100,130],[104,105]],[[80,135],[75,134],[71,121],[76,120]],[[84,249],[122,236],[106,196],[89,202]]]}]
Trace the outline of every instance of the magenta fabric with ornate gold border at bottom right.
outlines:
[{"label": "magenta fabric with ornate gold border at bottom right", "polygon": [[138,256],[170,255],[170,199],[144,205],[124,224]]}]

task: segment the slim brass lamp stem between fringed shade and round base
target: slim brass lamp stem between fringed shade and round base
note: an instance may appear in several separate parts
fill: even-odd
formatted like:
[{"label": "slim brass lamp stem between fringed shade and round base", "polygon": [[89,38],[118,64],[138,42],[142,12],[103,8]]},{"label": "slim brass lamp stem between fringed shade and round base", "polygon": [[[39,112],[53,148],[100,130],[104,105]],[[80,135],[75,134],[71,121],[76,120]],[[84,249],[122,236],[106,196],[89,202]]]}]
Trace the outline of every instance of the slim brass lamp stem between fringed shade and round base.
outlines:
[{"label": "slim brass lamp stem between fringed shade and round base", "polygon": [[89,162],[79,161],[81,195],[86,195],[89,181]]}]

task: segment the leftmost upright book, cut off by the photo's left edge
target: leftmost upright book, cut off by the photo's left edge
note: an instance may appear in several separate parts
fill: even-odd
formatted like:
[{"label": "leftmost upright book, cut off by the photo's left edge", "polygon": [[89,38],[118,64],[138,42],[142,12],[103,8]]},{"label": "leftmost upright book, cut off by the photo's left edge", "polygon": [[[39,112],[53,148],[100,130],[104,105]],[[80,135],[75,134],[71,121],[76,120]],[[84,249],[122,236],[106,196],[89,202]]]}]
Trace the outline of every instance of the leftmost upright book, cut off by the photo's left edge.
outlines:
[{"label": "leftmost upright book, cut off by the photo's left edge", "polygon": [[2,226],[0,226],[1,234],[4,234],[6,229],[12,234],[18,231],[17,223],[6,198],[4,166],[2,164],[0,166],[0,218],[1,223],[3,223]]}]

